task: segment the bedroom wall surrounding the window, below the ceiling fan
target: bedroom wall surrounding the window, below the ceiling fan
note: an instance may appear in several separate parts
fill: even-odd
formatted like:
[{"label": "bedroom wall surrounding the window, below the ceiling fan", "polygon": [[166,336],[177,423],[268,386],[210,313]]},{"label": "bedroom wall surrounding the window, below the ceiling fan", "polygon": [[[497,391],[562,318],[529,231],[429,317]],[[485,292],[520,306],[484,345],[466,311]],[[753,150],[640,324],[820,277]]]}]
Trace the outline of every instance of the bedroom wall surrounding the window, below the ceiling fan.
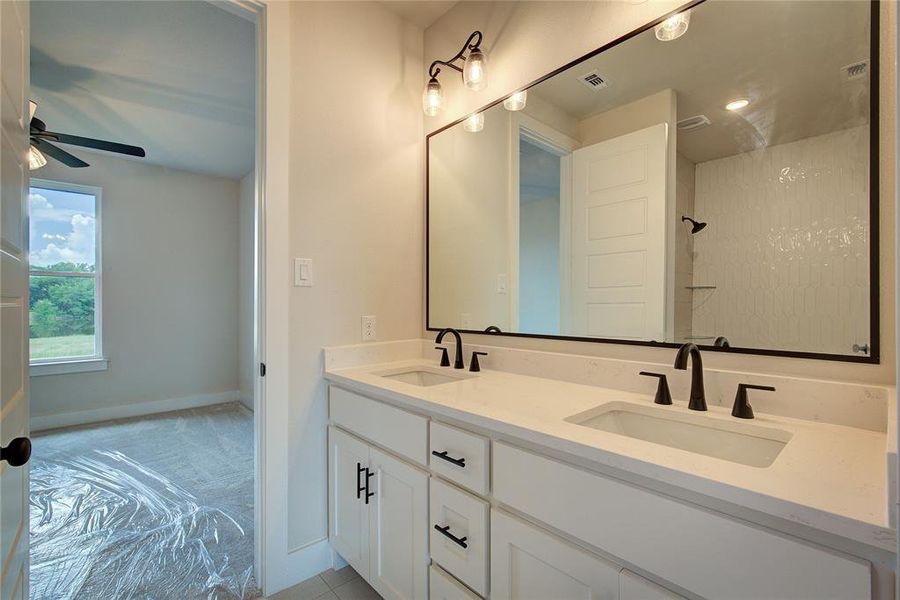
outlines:
[{"label": "bedroom wall surrounding the window, below the ceiling fan", "polygon": [[91,166],[51,160],[35,176],[103,189],[109,369],[32,377],[32,417],[206,394],[233,399],[238,183],[84,150],[79,156]]}]

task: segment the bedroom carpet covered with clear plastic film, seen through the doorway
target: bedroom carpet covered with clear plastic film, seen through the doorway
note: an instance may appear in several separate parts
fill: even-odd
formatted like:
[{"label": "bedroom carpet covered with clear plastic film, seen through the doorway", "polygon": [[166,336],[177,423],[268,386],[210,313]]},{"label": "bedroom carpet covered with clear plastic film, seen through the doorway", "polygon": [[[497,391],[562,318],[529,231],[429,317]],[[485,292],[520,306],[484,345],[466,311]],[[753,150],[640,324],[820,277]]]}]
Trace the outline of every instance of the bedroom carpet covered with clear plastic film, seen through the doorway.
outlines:
[{"label": "bedroom carpet covered with clear plastic film, seen through the doorway", "polygon": [[242,405],[32,441],[33,600],[259,596],[253,415]]}]

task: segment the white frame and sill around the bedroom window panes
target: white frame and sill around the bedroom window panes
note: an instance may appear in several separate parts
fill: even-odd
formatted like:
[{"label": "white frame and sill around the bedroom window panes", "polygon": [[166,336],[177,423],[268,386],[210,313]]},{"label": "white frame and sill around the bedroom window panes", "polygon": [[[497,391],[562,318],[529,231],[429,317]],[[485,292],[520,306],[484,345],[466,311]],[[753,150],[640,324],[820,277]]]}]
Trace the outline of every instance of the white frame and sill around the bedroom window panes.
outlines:
[{"label": "white frame and sill around the bedroom window panes", "polygon": [[[94,280],[94,354],[90,356],[71,356],[59,358],[32,359],[29,352],[29,365],[31,375],[59,375],[82,371],[100,371],[107,367],[107,359],[103,354],[103,243],[102,243],[102,199],[103,188],[92,185],[82,185],[65,181],[41,179],[32,177],[28,184],[28,192],[34,188],[53,190],[57,192],[72,192],[75,194],[88,194],[94,197],[94,272],[65,273],[61,271],[34,271],[31,268],[31,237],[29,233],[28,244],[28,281],[31,287],[33,276],[56,277],[82,277]],[[30,206],[29,206],[30,208]],[[29,212],[29,232],[31,230],[31,215]],[[30,311],[30,307],[29,307]],[[29,344],[31,336],[29,335]]]}]

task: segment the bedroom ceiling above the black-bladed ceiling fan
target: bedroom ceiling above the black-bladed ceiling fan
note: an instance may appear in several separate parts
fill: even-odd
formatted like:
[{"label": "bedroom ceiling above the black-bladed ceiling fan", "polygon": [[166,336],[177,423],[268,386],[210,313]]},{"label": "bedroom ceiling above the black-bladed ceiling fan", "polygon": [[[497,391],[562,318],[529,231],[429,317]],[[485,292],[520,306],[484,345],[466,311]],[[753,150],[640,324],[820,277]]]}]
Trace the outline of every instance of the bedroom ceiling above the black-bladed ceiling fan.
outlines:
[{"label": "bedroom ceiling above the black-bladed ceiling fan", "polygon": [[33,1],[37,116],[52,131],[144,147],[134,160],[243,177],[253,169],[254,35],[206,2]]}]

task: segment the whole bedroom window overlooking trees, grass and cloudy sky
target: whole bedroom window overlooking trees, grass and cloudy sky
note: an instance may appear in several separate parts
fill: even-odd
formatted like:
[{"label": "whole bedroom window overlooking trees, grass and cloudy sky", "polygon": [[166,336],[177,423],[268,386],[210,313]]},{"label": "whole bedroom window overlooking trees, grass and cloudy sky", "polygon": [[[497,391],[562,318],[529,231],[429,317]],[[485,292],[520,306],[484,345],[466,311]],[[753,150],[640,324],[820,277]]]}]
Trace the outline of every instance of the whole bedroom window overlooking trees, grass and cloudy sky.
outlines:
[{"label": "whole bedroom window overlooking trees, grass and cloudy sky", "polygon": [[[31,184],[32,374],[105,368],[100,338],[100,189],[37,179]],[[49,370],[41,372],[41,365]],[[57,365],[72,366],[59,370]]]}]

